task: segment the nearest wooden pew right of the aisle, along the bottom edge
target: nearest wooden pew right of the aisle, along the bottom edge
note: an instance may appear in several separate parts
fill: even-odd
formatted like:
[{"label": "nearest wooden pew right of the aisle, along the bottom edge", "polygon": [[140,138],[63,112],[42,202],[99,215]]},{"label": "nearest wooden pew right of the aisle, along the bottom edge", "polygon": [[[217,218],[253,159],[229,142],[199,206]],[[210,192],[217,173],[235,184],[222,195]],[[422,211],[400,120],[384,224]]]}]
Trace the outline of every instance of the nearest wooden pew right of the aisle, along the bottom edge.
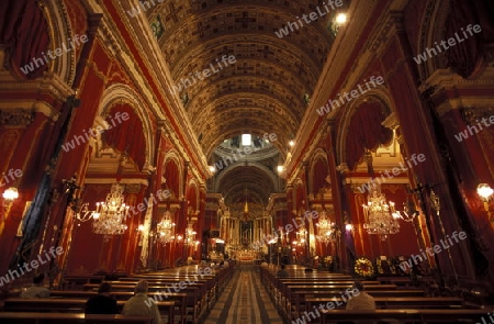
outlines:
[{"label": "nearest wooden pew right of the aisle, along the bottom edge", "polygon": [[[482,316],[486,316],[493,310],[375,310],[375,311],[346,311],[346,310],[323,310],[319,311],[319,323],[335,322],[369,322],[381,321],[385,323],[478,323]],[[313,320],[312,314],[308,314]],[[306,316],[304,315],[306,320]],[[317,316],[316,316],[317,319]]]}]

